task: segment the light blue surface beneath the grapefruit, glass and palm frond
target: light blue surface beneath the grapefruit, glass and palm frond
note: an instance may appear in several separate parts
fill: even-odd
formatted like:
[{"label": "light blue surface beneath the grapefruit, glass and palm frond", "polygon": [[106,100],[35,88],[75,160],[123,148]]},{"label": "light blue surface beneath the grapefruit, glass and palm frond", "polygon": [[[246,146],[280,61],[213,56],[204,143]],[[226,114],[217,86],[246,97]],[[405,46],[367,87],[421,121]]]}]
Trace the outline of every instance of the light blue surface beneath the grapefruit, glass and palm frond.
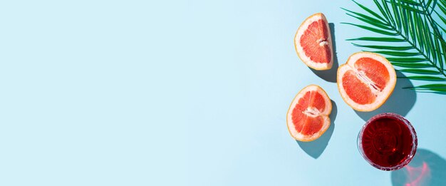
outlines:
[{"label": "light blue surface beneath the grapefruit, glass and palm frond", "polygon": [[[353,19],[339,7],[358,10],[322,0],[3,2],[0,185],[405,183],[406,172],[358,153],[375,113],[349,108],[334,77],[294,51],[296,29],[316,12],[334,24],[339,63],[359,51],[346,38],[368,33],[340,24]],[[312,83],[335,103],[334,127],[296,143],[286,110]],[[426,162],[425,182],[439,185],[446,95],[400,89],[409,83],[377,112],[413,123],[413,166]]]}]

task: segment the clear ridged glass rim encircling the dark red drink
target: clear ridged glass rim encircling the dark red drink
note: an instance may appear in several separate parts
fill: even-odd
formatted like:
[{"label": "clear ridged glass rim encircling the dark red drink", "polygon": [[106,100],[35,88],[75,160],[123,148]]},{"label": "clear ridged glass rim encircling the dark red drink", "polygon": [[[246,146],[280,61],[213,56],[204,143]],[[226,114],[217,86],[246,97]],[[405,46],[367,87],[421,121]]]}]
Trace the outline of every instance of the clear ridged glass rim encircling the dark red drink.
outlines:
[{"label": "clear ridged glass rim encircling the dark red drink", "polygon": [[[408,126],[409,130],[410,130],[410,134],[412,135],[412,141],[413,141],[413,146],[412,146],[412,150],[410,150],[410,153],[408,154],[408,156],[405,158],[405,160],[403,162],[401,162],[398,165],[395,165],[393,167],[383,167],[381,165],[377,165],[374,162],[372,162],[364,153],[363,151],[363,145],[362,145],[362,136],[364,133],[365,128],[372,123],[373,121],[379,119],[379,118],[383,118],[383,117],[388,117],[388,118],[395,118],[396,120],[400,120],[402,121],[405,125]],[[372,165],[375,168],[378,168],[379,170],[398,170],[402,167],[404,167],[405,165],[408,165],[409,162],[413,159],[413,156],[415,155],[415,153],[417,152],[417,146],[418,146],[418,138],[417,138],[417,133],[415,132],[415,128],[413,128],[413,125],[410,124],[410,122],[404,118],[402,115],[399,115],[397,113],[380,113],[378,115],[373,116],[372,118],[370,118],[367,122],[365,122],[365,124],[363,125],[363,127],[361,128],[361,130],[358,133],[358,139],[357,139],[357,143],[358,143],[358,151],[359,153],[363,156],[363,158],[365,159],[365,161],[367,161],[370,165]]]}]

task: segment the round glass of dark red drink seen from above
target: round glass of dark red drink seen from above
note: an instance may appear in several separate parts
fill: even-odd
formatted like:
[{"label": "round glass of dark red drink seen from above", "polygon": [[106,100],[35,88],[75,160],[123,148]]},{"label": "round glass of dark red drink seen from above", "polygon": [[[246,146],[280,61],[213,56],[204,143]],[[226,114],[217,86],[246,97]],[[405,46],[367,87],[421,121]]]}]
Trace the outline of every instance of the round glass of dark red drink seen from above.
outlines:
[{"label": "round glass of dark red drink seen from above", "polygon": [[381,170],[396,170],[412,160],[417,148],[415,130],[409,121],[395,113],[375,115],[358,136],[365,160]]}]

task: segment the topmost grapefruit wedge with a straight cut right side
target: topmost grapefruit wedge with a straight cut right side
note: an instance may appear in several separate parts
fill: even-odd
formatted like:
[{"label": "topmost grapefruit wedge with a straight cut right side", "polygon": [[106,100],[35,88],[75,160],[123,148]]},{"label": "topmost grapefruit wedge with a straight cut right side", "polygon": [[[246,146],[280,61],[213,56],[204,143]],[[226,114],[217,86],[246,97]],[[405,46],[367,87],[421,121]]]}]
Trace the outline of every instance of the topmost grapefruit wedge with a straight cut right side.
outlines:
[{"label": "topmost grapefruit wedge with a straight cut right side", "polygon": [[330,27],[322,13],[305,19],[294,36],[297,55],[306,66],[315,70],[328,70],[333,66],[333,48]]}]

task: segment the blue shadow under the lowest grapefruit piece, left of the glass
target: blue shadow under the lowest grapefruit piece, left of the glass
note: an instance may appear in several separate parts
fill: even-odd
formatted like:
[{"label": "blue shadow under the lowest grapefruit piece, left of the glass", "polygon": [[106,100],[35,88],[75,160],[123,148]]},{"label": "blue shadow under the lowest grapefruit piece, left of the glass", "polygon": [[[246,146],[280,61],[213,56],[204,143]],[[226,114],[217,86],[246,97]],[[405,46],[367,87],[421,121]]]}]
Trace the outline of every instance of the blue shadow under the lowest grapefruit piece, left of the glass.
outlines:
[{"label": "blue shadow under the lowest grapefruit piece, left of the glass", "polygon": [[331,100],[331,105],[333,107],[330,113],[331,123],[327,131],[323,133],[320,138],[311,142],[301,142],[296,140],[297,144],[299,144],[302,150],[304,150],[306,154],[310,155],[314,159],[317,159],[319,156],[321,156],[323,150],[325,150],[328,145],[328,141],[331,139],[331,135],[333,135],[333,131],[335,128],[334,121],[336,120],[336,115],[338,114],[338,107],[333,100]]}]

